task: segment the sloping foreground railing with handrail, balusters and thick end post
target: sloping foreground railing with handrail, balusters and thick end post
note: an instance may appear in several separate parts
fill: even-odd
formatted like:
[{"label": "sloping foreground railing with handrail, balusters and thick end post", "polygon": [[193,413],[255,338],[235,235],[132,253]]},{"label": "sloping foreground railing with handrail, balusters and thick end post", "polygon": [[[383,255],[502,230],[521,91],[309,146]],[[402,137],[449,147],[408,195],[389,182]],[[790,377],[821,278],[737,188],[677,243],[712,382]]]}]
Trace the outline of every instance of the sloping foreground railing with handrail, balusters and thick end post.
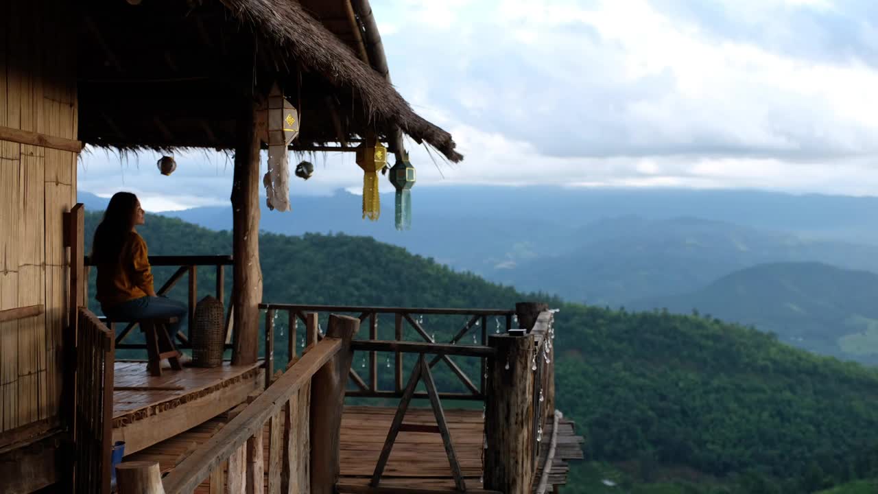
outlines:
[{"label": "sloping foreground railing with handrail, balusters and thick end post", "polygon": [[[359,321],[329,318],[327,335],[198,447],[164,479],[151,464],[119,466],[119,487],[130,492],[189,493],[226,465],[225,492],[333,492],[338,476],[338,430],[342,421],[344,379],[350,366],[350,341]],[[269,454],[263,456],[268,426]],[[148,471],[148,475],[144,472]],[[130,475],[129,475],[130,472]],[[267,474],[267,482],[266,482]]]}]

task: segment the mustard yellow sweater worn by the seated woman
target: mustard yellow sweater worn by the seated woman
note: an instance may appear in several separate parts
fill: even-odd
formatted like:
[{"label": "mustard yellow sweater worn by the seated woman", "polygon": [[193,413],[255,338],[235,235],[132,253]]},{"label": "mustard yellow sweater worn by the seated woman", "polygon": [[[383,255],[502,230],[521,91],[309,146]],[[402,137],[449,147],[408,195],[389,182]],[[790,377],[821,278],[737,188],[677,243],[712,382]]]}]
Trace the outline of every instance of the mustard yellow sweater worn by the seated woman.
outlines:
[{"label": "mustard yellow sweater worn by the seated woman", "polygon": [[97,265],[97,294],[101,307],[112,306],[153,293],[153,273],[149,269],[147,243],[136,232],[127,234],[119,261]]}]

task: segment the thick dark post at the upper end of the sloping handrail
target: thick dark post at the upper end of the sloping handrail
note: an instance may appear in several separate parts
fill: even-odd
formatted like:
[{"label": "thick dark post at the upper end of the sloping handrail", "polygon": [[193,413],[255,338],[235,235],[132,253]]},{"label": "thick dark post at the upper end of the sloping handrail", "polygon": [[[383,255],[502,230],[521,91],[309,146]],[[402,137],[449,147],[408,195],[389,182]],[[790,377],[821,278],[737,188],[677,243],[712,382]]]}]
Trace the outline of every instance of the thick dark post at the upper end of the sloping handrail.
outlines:
[{"label": "thick dark post at the upper end of the sloping handrail", "polygon": [[344,389],[354,353],[350,342],[360,329],[356,317],[329,316],[327,338],[342,339],[342,348],[311,381],[311,492],[332,494],[339,476],[339,436]]}]

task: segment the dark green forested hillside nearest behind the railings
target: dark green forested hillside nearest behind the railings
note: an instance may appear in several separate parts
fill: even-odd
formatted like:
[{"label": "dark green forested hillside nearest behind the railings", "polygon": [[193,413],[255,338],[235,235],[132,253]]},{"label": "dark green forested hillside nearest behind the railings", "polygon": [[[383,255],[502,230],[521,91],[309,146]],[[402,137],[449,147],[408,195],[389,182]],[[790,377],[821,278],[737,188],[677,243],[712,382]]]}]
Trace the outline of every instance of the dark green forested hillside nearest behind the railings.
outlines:
[{"label": "dark green forested hillside nearest behind the railings", "polygon": [[[98,220],[88,215],[88,235]],[[152,215],[140,232],[153,254],[231,250],[228,232]],[[507,308],[544,298],[370,238],[265,234],[260,245],[265,301]],[[199,273],[203,290],[210,280]],[[608,469],[627,491],[651,493],[811,492],[878,474],[876,371],[706,316],[550,302],[561,309],[558,408],[591,461],[566,492],[603,492]]]}]

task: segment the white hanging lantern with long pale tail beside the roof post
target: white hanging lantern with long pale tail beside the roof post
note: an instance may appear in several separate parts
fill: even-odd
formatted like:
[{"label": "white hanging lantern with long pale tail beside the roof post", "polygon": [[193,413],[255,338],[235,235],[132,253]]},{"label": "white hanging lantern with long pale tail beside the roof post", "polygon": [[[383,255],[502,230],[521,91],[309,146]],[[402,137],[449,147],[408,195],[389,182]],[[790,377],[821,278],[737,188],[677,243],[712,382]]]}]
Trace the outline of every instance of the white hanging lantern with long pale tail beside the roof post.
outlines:
[{"label": "white hanging lantern with long pale tail beside the roof post", "polygon": [[290,210],[290,163],[287,146],[299,135],[299,112],[284,98],[277,84],[271,86],[268,104],[259,122],[263,142],[269,146],[269,171],[263,177],[269,209]]}]

